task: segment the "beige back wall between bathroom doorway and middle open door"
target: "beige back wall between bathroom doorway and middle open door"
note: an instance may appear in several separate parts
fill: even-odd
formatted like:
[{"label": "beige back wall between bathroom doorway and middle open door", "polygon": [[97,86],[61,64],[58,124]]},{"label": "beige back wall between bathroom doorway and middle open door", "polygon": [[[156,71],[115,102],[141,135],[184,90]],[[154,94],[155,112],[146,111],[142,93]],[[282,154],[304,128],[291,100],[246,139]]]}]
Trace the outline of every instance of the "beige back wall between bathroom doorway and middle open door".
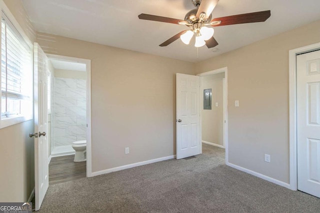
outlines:
[{"label": "beige back wall between bathroom doorway and middle open door", "polygon": [[91,60],[92,172],[175,154],[175,73],[194,74],[193,63],[43,33],[37,42]]}]

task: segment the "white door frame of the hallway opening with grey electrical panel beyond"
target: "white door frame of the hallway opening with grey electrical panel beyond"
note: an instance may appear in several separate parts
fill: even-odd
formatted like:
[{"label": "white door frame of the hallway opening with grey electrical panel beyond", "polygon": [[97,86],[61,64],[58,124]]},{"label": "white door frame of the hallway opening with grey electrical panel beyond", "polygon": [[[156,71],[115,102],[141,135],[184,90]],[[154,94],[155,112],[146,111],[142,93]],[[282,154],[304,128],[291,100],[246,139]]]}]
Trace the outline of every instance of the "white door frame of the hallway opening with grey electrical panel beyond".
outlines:
[{"label": "white door frame of the hallway opening with grey electrical panel beyond", "polygon": [[[219,68],[219,69],[215,69],[215,70],[211,70],[211,71],[208,71],[208,72],[202,72],[202,73],[199,73],[197,74],[197,76],[200,77],[200,88],[201,88],[201,77],[203,76],[207,76],[207,75],[213,75],[213,74],[217,74],[217,73],[221,73],[221,72],[224,72],[224,88],[223,88],[223,91],[224,91],[224,94],[223,94],[223,99],[224,99],[224,103],[223,103],[223,118],[225,120],[225,123],[223,124],[223,146],[225,148],[225,164],[228,164],[228,110],[227,110],[227,103],[228,103],[228,92],[227,92],[227,82],[228,82],[228,69],[227,67],[222,67],[222,68]],[[200,91],[201,93],[201,91]],[[200,100],[201,101],[201,100]],[[200,103],[200,106],[202,104]],[[201,119],[201,111],[200,110],[200,154],[202,154],[202,119]]]}]

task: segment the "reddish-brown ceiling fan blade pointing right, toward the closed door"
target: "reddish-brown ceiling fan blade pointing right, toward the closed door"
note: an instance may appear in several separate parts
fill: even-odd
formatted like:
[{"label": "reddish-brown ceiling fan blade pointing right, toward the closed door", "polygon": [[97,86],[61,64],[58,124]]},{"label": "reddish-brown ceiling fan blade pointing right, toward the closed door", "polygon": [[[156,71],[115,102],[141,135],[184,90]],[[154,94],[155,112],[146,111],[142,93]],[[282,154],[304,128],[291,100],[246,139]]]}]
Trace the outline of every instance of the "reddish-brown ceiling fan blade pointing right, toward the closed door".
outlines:
[{"label": "reddish-brown ceiling fan blade pointing right, toward the closed door", "polygon": [[220,18],[213,18],[211,20],[211,25],[223,26],[223,25],[239,24],[239,23],[262,22],[268,19],[270,15],[271,15],[270,10],[250,12],[250,13],[244,13],[244,14],[238,14],[238,15],[230,15],[230,16],[225,16]]}]

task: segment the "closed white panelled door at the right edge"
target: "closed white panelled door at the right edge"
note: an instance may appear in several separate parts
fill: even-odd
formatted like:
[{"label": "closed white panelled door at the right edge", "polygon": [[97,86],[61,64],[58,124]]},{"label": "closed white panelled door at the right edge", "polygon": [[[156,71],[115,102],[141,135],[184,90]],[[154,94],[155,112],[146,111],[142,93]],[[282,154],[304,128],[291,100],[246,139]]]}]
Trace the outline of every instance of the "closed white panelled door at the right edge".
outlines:
[{"label": "closed white panelled door at the right edge", "polygon": [[320,198],[320,50],[296,56],[297,188]]}]

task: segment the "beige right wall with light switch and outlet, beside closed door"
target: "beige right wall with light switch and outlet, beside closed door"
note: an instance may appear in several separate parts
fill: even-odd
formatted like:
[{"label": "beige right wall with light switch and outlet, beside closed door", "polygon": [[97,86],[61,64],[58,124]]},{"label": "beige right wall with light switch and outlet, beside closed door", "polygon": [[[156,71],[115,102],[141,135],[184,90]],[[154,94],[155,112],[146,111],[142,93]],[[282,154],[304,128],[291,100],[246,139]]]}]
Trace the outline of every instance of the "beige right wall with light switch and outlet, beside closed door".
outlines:
[{"label": "beige right wall with light switch and outlet, beside closed door", "polygon": [[289,183],[288,51],[320,42],[319,26],[320,20],[196,64],[197,73],[227,66],[230,163]]}]

